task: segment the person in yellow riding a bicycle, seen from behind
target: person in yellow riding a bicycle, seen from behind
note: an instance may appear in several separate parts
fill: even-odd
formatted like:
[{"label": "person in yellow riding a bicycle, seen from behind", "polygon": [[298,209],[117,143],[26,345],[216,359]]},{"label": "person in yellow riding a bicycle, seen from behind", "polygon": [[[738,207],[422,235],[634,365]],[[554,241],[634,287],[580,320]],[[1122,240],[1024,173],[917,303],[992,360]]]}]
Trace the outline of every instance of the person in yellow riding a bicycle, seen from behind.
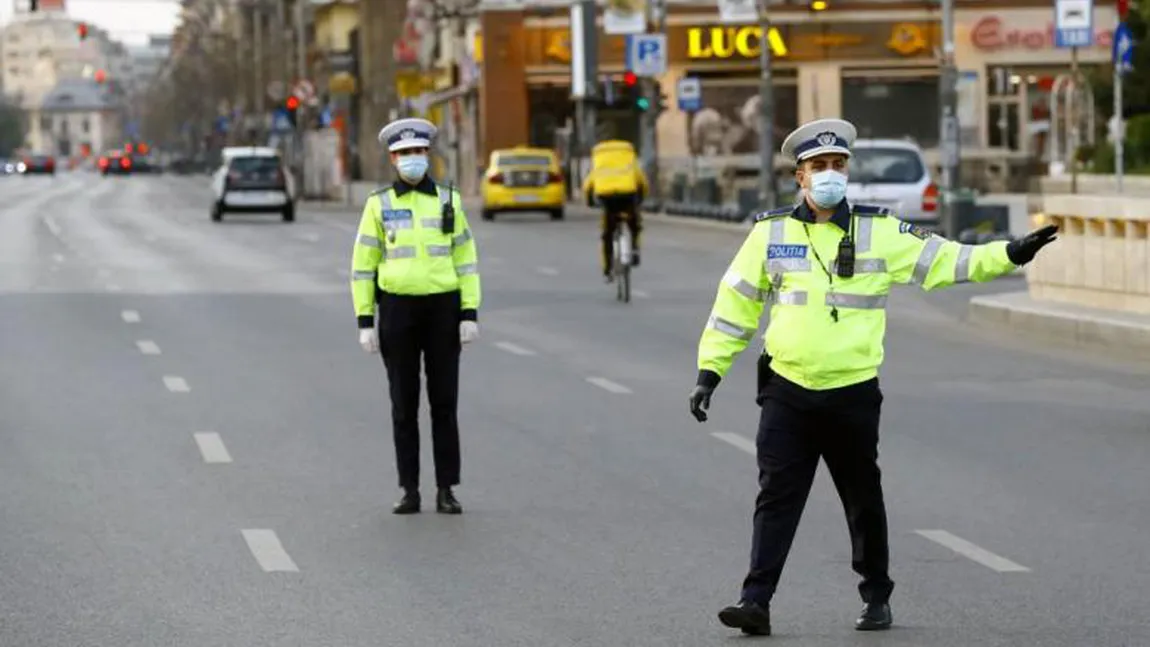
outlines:
[{"label": "person in yellow riding a bicycle, seen from behind", "polygon": [[614,275],[615,228],[627,219],[631,232],[631,264],[639,264],[639,233],[643,231],[639,205],[649,191],[646,176],[639,168],[635,147],[629,141],[611,139],[591,149],[591,172],[583,180],[583,195],[589,207],[603,207],[599,230],[603,237],[603,276],[610,283]]}]

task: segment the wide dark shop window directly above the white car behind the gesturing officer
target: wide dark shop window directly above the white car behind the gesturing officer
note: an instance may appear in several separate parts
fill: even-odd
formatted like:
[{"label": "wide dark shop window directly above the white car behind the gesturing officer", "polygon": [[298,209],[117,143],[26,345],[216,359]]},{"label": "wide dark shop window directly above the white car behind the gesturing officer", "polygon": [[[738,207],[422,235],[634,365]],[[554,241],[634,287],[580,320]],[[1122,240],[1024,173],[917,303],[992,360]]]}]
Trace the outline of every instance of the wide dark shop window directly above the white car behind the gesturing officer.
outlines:
[{"label": "wide dark shop window directly above the white car behind the gesturing officer", "polygon": [[843,118],[861,139],[910,138],[923,148],[938,145],[938,77],[930,72],[844,70]]}]

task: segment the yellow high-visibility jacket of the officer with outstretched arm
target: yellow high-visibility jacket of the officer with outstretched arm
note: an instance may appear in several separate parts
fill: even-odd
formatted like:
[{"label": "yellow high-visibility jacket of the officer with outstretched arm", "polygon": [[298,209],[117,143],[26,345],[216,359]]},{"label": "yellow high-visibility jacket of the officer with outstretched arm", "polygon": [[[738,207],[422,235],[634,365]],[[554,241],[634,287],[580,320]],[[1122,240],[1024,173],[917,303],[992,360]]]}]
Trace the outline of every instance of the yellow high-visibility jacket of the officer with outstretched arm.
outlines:
[{"label": "yellow high-visibility jacket of the officer with outstretched arm", "polygon": [[[1005,241],[960,245],[883,207],[843,202],[830,222],[815,224],[800,203],[756,219],[719,285],[699,340],[699,384],[714,386],[727,373],[754,338],[768,303],[765,352],[775,373],[812,391],[866,382],[882,364],[891,285],[934,290],[987,282],[1015,268]],[[854,276],[844,279],[834,263],[848,228],[856,261]]]}]

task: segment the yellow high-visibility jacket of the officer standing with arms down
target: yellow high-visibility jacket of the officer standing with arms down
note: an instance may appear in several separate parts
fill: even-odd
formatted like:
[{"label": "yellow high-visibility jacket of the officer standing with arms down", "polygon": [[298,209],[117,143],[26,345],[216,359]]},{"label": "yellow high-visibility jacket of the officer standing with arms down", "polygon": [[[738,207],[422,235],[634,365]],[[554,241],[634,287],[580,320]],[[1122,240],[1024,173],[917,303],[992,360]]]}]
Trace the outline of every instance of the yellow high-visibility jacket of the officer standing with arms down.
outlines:
[{"label": "yellow high-visibility jacket of the officer standing with arms down", "polygon": [[[443,233],[443,205],[455,211]],[[375,325],[376,286],[389,294],[460,291],[461,313],[476,321],[482,300],[478,252],[458,191],[429,178],[397,182],[367,199],[352,248],[352,301],[360,328]]]}]

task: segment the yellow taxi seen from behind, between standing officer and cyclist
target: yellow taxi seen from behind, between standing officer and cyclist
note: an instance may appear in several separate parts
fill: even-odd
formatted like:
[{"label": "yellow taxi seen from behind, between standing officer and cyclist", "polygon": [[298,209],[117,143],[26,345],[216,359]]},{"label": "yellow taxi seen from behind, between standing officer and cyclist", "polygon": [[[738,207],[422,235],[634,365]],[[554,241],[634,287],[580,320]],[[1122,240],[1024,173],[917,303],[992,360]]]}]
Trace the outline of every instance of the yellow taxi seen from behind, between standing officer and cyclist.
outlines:
[{"label": "yellow taxi seen from behind, between standing officer and cyclist", "polygon": [[564,218],[567,191],[559,159],[547,148],[519,146],[491,153],[483,175],[483,219],[500,211],[547,211]]}]

